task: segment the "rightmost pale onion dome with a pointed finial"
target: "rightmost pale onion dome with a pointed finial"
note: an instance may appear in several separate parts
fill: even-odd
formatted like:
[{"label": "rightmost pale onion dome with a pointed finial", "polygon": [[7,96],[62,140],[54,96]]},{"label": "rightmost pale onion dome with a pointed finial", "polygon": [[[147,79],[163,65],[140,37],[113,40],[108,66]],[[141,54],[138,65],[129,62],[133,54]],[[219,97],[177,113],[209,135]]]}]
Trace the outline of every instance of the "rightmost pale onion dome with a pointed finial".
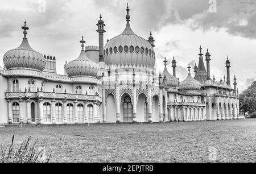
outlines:
[{"label": "rightmost pale onion dome with a pointed finial", "polygon": [[201,89],[201,83],[197,80],[195,80],[190,73],[190,66],[188,66],[188,77],[180,82],[179,89],[180,90],[193,90],[198,91]]}]

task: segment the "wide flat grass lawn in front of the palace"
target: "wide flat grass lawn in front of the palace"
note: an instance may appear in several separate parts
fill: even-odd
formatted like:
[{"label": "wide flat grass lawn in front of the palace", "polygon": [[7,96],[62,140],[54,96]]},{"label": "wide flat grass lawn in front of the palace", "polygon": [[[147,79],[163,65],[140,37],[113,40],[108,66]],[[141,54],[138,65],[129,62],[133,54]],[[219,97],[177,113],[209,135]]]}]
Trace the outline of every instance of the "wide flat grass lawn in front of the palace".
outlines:
[{"label": "wide flat grass lawn in front of the palace", "polygon": [[32,135],[51,162],[256,162],[256,119],[212,122],[0,128],[10,144]]}]

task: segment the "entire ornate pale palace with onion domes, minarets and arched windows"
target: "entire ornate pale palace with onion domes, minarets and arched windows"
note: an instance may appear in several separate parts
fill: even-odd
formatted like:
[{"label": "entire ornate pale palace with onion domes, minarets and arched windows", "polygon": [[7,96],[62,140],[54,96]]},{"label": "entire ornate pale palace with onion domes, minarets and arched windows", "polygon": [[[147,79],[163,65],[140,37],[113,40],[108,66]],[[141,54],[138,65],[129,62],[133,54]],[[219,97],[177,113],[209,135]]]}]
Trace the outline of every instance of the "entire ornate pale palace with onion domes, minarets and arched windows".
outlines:
[{"label": "entire ornate pale palace with onion domes, minarets and arched windows", "polygon": [[7,51],[0,68],[0,124],[75,124],[115,122],[169,122],[237,119],[236,77],[230,81],[226,60],[224,81],[210,77],[210,53],[202,48],[195,77],[176,77],[155,69],[154,38],[136,35],[130,27],[129,7],[125,30],[104,46],[105,24],[97,23],[98,46],[85,47],[82,37],[77,59],[56,73],[56,57],[42,55],[28,43],[26,22],[19,47]]}]

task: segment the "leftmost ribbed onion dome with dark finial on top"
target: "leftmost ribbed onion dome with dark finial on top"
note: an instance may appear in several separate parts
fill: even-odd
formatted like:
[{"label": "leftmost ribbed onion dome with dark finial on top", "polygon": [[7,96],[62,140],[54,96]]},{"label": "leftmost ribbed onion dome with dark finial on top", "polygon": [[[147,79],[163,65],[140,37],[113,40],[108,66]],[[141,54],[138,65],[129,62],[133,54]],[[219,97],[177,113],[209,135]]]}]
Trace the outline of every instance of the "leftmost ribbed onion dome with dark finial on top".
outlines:
[{"label": "leftmost ribbed onion dome with dark finial on top", "polygon": [[7,51],[3,56],[3,63],[7,69],[13,68],[31,68],[38,71],[43,71],[46,68],[46,60],[42,53],[39,53],[30,47],[27,39],[26,21],[22,27],[24,30],[24,38],[19,47]]}]

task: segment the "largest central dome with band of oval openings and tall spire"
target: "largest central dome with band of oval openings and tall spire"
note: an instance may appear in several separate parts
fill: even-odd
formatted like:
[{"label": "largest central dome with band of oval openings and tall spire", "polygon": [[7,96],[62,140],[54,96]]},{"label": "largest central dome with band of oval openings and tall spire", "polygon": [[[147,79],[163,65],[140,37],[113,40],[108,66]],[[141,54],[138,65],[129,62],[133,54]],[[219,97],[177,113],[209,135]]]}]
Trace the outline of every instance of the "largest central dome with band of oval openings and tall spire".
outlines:
[{"label": "largest central dome with band of oval openings and tall spire", "polygon": [[108,65],[155,66],[155,52],[152,45],[136,35],[130,27],[129,7],[127,6],[126,28],[122,34],[110,39],[104,48],[104,61]]}]

